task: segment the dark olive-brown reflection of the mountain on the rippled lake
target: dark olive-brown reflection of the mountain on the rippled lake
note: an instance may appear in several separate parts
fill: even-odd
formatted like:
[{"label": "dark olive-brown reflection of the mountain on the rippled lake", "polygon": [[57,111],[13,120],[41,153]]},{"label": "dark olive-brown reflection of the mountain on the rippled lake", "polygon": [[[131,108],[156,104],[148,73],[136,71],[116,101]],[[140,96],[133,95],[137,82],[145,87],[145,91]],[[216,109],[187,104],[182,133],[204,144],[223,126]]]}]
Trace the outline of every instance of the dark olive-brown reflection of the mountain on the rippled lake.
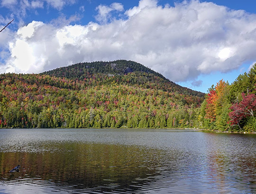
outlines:
[{"label": "dark olive-brown reflection of the mountain on the rippled lake", "polygon": [[[160,154],[157,150],[98,143],[53,143],[47,146],[58,147],[61,151],[1,152],[0,175],[4,182],[29,180],[47,186],[50,181],[64,187],[72,186],[72,189],[135,192],[137,186],[152,181],[150,177],[160,175],[155,165],[159,162],[155,157]],[[9,173],[18,160],[20,172]]]}]

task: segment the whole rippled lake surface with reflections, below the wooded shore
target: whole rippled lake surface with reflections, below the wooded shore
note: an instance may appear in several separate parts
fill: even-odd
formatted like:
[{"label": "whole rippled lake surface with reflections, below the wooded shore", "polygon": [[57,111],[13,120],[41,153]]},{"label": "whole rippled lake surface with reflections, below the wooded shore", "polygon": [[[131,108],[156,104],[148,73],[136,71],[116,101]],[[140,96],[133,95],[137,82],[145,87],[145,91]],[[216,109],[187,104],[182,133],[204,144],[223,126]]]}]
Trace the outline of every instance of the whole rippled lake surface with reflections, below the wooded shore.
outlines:
[{"label": "whole rippled lake surface with reflections, below the wooded shore", "polygon": [[0,129],[0,193],[56,192],[256,193],[256,135]]}]

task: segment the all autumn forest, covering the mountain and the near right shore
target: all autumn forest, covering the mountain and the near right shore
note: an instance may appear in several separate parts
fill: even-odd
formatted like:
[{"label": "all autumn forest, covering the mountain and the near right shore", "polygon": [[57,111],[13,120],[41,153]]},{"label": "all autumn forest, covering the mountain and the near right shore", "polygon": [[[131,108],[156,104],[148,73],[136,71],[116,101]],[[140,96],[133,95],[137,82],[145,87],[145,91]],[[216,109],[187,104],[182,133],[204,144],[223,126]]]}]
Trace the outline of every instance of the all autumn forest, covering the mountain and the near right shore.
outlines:
[{"label": "all autumn forest, covering the mountain and the near right shore", "polygon": [[256,131],[256,65],[207,94],[133,61],[0,75],[1,128],[200,128]]}]

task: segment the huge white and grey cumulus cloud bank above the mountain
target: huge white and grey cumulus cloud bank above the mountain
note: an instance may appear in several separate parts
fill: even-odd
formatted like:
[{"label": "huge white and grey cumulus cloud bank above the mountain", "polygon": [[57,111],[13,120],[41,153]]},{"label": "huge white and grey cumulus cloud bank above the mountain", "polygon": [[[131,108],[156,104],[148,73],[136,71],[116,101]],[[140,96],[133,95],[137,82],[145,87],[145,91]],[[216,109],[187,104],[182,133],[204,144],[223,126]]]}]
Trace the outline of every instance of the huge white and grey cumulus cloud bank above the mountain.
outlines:
[{"label": "huge white and grey cumulus cloud bank above the mountain", "polygon": [[[38,73],[82,61],[128,59],[182,82],[256,61],[256,15],[243,10],[199,0],[175,7],[140,0],[128,10],[119,3],[97,10],[99,24],[33,21],[20,28],[2,72]],[[124,17],[112,19],[111,11]]]}]

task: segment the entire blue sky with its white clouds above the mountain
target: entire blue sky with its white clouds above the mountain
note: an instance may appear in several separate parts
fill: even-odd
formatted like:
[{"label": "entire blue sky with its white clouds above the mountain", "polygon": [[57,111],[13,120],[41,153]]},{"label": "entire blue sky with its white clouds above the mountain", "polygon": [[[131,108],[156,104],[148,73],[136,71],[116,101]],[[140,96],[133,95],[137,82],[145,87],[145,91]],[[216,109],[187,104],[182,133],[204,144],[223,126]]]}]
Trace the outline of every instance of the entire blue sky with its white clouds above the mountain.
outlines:
[{"label": "entire blue sky with its white clouds above the mountain", "polygon": [[206,93],[256,63],[256,0],[0,0],[0,73],[133,60]]}]

